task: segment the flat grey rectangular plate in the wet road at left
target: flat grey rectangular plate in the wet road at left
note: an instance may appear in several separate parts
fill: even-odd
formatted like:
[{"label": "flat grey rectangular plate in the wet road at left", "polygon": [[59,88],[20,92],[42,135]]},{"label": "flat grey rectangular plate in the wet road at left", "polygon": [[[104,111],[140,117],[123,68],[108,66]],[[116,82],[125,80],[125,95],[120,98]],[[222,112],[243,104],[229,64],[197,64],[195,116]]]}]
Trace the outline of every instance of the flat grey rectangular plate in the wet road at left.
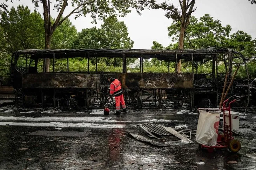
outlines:
[{"label": "flat grey rectangular plate in the wet road at left", "polygon": [[86,137],[90,134],[90,131],[87,132],[63,132],[63,131],[35,131],[29,133],[28,135],[35,136],[69,136],[69,137]]}]

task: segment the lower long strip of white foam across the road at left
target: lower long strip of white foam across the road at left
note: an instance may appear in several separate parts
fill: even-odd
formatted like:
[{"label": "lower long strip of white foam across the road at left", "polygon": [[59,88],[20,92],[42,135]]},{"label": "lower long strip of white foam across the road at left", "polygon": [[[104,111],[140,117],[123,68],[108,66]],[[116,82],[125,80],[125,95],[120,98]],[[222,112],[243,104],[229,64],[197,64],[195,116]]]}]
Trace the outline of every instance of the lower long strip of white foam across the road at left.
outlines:
[{"label": "lower long strip of white foam across the road at left", "polygon": [[90,128],[124,128],[125,127],[125,125],[115,125],[115,124],[61,123],[61,122],[50,122],[50,123],[0,122],[0,125],[9,125],[9,126],[44,126],[44,127],[45,126],[46,127],[90,127]]}]

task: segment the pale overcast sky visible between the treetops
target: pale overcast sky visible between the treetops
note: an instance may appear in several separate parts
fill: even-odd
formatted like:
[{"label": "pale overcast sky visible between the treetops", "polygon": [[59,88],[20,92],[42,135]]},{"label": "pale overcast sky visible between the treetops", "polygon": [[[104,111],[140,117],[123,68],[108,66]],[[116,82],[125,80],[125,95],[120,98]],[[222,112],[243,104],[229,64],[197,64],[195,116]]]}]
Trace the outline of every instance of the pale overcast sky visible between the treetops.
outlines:
[{"label": "pale overcast sky visible between the treetops", "polygon": [[[177,3],[178,0],[173,0],[173,2]],[[10,6],[17,6],[18,4],[29,6],[32,11],[34,9],[31,0],[9,3]],[[204,14],[210,14],[215,20],[220,20],[222,26],[231,25],[231,33],[241,30],[250,34],[252,39],[256,38],[256,4],[251,5],[248,0],[196,0],[195,7],[196,11],[192,15],[195,15],[198,19]],[[72,7],[68,7],[64,15],[72,9]],[[42,7],[39,7],[38,11],[42,13]],[[57,13],[52,12],[51,15],[56,17]],[[89,16],[79,17],[76,20],[71,16],[69,19],[78,32],[83,28],[100,27],[102,24],[102,21],[99,21],[96,25],[91,24]],[[172,43],[167,31],[167,27],[170,26],[172,20],[167,19],[160,9],[147,9],[142,11],[141,15],[133,10],[132,13],[119,18],[119,20],[124,21],[128,28],[129,36],[134,41],[133,49],[150,49],[154,40],[163,44],[163,46]]]}]

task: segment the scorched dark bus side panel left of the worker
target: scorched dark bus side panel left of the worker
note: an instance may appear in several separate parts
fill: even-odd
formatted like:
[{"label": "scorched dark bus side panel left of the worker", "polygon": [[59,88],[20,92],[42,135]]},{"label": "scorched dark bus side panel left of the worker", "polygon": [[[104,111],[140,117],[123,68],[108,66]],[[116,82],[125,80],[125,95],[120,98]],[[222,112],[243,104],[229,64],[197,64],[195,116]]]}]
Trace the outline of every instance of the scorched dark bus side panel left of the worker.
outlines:
[{"label": "scorched dark bus side panel left of the worker", "polygon": [[22,88],[100,88],[100,74],[29,73],[21,74]]}]

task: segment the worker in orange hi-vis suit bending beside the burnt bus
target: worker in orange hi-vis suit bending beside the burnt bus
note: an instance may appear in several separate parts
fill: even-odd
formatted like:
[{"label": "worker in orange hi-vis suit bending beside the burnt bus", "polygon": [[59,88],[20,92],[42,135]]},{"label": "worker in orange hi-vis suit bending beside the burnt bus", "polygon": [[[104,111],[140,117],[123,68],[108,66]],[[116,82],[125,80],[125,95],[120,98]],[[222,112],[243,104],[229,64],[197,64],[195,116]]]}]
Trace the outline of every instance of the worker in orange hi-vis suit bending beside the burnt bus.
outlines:
[{"label": "worker in orange hi-vis suit bending beside the burnt bus", "polygon": [[120,114],[120,102],[123,108],[123,112],[126,112],[126,105],[124,103],[123,98],[123,89],[121,88],[121,82],[113,77],[108,77],[108,81],[110,82],[110,95],[115,95],[116,101],[116,112],[115,115]]}]

